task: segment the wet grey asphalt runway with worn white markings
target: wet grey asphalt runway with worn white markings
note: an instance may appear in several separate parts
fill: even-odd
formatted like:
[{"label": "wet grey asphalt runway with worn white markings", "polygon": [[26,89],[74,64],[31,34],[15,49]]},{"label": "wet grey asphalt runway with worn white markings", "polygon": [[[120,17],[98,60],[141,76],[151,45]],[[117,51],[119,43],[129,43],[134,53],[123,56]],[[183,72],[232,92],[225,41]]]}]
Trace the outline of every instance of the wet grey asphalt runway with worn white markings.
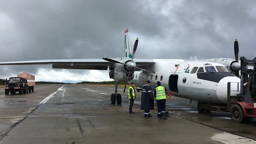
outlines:
[{"label": "wet grey asphalt runway with worn white markings", "polygon": [[199,114],[197,102],[178,97],[166,103],[167,120],[155,110],[144,118],[141,92],[135,114],[128,113],[127,90],[122,105],[110,103],[112,93],[114,87],[83,84],[36,86],[23,95],[0,90],[0,144],[256,144],[255,120],[237,124],[228,112]]}]

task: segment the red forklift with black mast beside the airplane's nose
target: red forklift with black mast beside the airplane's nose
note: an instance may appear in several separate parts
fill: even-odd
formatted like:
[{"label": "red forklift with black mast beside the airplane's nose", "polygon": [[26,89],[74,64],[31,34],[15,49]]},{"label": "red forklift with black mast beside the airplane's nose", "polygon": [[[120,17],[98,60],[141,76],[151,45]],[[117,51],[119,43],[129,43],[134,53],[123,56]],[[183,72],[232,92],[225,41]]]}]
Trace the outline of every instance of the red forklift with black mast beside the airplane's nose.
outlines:
[{"label": "red forklift with black mast beside the airplane's nose", "polygon": [[[228,82],[226,111],[230,112],[230,117],[233,121],[237,123],[248,123],[252,118],[256,118],[256,57],[253,60],[247,60],[245,57],[241,57],[240,60],[240,94],[230,96],[230,82]],[[247,66],[253,66],[253,69],[248,69]],[[232,102],[232,100],[235,101]]]}]

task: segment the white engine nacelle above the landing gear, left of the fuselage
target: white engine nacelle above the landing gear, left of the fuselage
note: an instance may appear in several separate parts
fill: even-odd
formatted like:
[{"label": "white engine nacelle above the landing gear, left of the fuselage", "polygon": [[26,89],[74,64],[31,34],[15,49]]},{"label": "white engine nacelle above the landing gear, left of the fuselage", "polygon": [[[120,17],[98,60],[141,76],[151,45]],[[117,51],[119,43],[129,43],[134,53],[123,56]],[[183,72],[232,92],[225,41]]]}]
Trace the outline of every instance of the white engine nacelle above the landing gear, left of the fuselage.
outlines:
[{"label": "white engine nacelle above the landing gear, left of the fuselage", "polygon": [[[134,78],[136,63],[133,62],[130,58],[119,58],[115,60],[127,65],[114,63],[113,69],[109,72],[110,78],[116,80],[117,82],[126,82],[127,77],[128,77],[128,81],[132,80]],[[130,71],[130,74],[129,74],[129,71]]]}]

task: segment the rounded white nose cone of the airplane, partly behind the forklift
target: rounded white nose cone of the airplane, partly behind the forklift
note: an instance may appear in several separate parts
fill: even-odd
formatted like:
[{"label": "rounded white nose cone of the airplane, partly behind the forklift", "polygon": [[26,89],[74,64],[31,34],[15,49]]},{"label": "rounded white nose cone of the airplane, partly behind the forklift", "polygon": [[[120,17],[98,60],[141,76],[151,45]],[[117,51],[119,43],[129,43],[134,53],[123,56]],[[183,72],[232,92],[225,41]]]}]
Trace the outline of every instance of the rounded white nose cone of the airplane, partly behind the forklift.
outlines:
[{"label": "rounded white nose cone of the airplane, partly behind the forklift", "polygon": [[236,96],[236,94],[240,94],[240,82],[241,82],[240,78],[235,76],[227,76],[222,78],[219,81],[216,93],[219,100],[225,104],[227,103],[227,97],[228,97],[228,82],[231,82],[230,95]]}]

